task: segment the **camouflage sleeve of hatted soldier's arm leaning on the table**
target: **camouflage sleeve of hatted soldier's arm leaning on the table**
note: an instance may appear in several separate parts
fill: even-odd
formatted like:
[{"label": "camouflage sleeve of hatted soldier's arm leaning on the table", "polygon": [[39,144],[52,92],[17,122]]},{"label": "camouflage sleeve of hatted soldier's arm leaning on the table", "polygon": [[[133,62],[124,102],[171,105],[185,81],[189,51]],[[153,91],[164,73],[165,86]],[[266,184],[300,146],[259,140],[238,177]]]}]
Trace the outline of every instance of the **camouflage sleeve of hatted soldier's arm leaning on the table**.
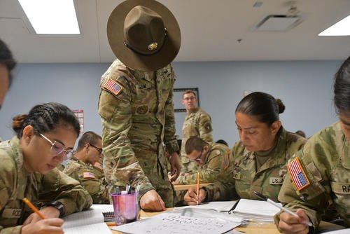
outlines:
[{"label": "camouflage sleeve of hatted soldier's arm leaning on the table", "polygon": [[128,90],[129,83],[124,80],[123,77],[118,79],[124,85],[120,94],[115,95],[102,88],[99,97],[104,173],[111,192],[116,186],[139,183],[141,193],[146,193],[154,187],[141,169],[128,137],[132,124],[131,91]]}]

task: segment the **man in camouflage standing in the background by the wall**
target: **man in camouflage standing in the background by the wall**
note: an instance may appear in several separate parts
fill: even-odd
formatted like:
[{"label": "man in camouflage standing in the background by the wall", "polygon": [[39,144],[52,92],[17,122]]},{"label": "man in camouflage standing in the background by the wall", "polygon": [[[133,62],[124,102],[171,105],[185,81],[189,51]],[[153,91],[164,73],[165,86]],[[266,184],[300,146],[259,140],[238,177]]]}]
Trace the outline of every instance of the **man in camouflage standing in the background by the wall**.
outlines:
[{"label": "man in camouflage standing in the background by the wall", "polygon": [[[200,137],[205,142],[213,142],[213,128],[209,114],[198,107],[196,94],[193,90],[183,92],[182,104],[185,106],[187,115],[182,127],[181,163],[183,165],[181,174],[196,170],[196,163],[191,162],[186,156],[186,141],[190,137]],[[181,184],[181,183],[180,183]]]}]

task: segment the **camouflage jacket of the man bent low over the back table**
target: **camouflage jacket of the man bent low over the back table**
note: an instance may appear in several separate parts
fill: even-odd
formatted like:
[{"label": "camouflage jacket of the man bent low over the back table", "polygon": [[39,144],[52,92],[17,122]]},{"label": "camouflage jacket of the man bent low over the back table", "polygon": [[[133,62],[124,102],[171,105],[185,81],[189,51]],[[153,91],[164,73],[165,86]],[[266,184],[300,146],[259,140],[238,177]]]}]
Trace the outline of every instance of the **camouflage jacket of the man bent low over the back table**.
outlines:
[{"label": "camouflage jacket of the man bent low over the back table", "polygon": [[[224,160],[228,157],[230,149],[223,144],[209,144],[209,152],[204,165],[200,168],[200,182],[211,183],[216,181],[217,175],[225,167]],[[180,176],[177,181],[179,184],[197,183],[197,168],[189,172],[187,176]]]}]

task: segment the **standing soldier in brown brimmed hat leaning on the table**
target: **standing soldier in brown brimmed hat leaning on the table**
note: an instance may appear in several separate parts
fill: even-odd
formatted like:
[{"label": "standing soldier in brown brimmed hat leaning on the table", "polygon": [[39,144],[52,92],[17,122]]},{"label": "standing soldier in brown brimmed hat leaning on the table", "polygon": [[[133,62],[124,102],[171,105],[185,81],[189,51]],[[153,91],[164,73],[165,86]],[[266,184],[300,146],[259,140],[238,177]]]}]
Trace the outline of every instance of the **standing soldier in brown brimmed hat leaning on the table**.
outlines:
[{"label": "standing soldier in brown brimmed hat leaning on the table", "polygon": [[167,160],[173,180],[181,163],[176,153],[175,74],[169,63],[180,49],[179,25],[158,1],[127,0],[111,13],[107,36],[118,57],[102,76],[99,97],[110,192],[140,184],[141,209],[173,207]]}]

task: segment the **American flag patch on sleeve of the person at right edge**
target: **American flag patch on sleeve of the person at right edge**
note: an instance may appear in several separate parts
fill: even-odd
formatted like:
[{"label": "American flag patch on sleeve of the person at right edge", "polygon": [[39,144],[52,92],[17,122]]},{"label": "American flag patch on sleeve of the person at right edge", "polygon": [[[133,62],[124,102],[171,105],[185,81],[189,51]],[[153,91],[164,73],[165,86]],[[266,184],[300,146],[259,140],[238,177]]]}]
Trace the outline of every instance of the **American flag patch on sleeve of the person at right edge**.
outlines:
[{"label": "American flag patch on sleeve of the person at right edge", "polygon": [[289,171],[290,177],[292,177],[295,188],[297,188],[297,191],[300,191],[302,190],[302,188],[309,186],[310,181],[307,178],[307,175],[305,174],[304,169],[302,168],[302,165],[300,164],[299,158],[293,159],[288,164],[288,171]]}]

